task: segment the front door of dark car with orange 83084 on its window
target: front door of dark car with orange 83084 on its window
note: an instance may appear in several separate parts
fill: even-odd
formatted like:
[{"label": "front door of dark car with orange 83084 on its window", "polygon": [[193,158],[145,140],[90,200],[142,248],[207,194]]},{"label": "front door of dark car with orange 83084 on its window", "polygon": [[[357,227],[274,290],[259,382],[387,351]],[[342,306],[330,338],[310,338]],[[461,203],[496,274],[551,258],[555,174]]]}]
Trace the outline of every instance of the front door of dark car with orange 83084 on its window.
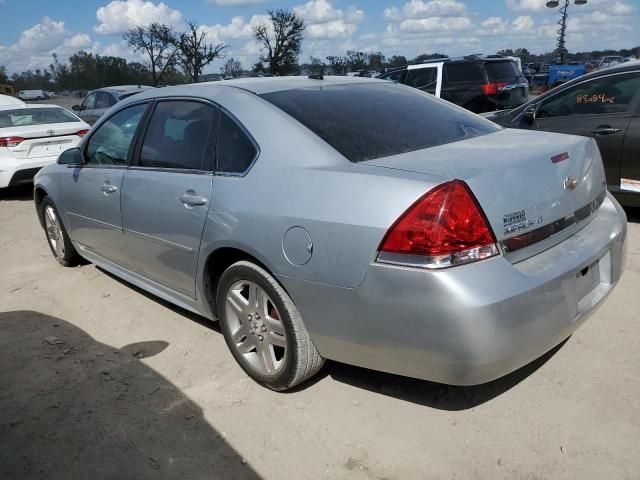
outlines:
[{"label": "front door of dark car with orange 83084 on its window", "polygon": [[622,145],[640,91],[640,72],[597,77],[568,87],[536,109],[534,128],[595,138],[609,190],[620,185]]}]

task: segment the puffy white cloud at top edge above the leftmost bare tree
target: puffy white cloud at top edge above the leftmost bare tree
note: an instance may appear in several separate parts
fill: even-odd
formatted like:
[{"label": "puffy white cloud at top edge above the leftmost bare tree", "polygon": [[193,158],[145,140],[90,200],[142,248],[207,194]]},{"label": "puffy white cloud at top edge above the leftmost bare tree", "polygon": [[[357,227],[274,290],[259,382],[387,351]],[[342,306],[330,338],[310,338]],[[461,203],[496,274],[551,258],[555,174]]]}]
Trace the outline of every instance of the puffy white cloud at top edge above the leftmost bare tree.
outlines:
[{"label": "puffy white cloud at top edge above the leftmost bare tree", "polygon": [[182,23],[182,12],[167,4],[144,0],[114,0],[98,8],[96,18],[100,22],[94,31],[100,35],[119,35],[138,25],[158,22],[171,26]]}]

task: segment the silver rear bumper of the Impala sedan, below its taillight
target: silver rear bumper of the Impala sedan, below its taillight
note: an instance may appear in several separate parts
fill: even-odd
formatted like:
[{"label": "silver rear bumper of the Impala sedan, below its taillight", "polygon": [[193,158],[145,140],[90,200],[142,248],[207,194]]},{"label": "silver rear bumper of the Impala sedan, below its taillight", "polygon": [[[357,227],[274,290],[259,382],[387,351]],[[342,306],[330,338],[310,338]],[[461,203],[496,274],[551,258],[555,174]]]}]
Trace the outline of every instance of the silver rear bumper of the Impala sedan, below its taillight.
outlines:
[{"label": "silver rear bumper of the Impala sedan, below its taillight", "polygon": [[326,358],[473,385],[538,358],[593,313],[620,279],[626,228],[609,195],[582,230],[516,264],[495,257],[439,272],[373,264],[353,289],[280,280]]}]

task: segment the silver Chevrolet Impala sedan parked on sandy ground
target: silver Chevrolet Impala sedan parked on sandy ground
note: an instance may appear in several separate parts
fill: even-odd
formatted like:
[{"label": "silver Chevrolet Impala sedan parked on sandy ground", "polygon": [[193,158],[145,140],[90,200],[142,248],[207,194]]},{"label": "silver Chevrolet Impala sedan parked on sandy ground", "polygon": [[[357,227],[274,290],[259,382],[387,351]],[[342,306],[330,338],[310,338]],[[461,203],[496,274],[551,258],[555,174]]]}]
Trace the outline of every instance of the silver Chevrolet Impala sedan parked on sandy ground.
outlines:
[{"label": "silver Chevrolet Impala sedan parked on sandy ground", "polygon": [[470,385],[566,339],[623,270],[592,139],[325,77],[149,90],[35,178],[51,250],[220,321],[274,390],[325,359]]}]

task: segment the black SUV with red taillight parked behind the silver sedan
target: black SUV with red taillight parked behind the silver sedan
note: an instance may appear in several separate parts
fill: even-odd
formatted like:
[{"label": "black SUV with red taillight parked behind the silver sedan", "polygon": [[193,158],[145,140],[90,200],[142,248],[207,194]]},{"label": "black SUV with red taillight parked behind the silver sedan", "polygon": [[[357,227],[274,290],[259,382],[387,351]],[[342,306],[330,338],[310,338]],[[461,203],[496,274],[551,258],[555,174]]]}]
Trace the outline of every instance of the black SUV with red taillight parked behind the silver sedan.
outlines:
[{"label": "black SUV with red taillight parked behind the silver sedan", "polygon": [[418,88],[475,113],[514,108],[529,99],[529,84],[518,63],[501,55],[427,60],[378,78]]}]

